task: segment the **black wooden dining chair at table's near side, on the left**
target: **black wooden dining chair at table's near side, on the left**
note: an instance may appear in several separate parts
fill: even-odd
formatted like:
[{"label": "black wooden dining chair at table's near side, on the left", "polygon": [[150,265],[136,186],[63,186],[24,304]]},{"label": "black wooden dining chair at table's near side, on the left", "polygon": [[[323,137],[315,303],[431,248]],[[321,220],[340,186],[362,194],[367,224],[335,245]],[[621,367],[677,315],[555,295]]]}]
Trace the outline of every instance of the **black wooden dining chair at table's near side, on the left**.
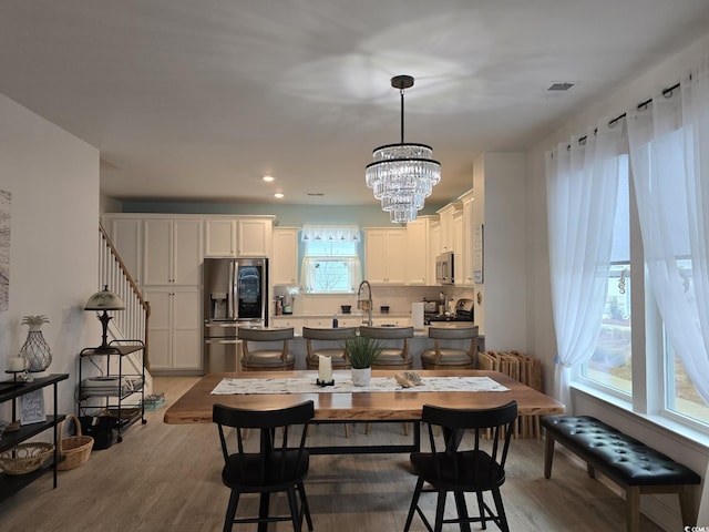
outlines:
[{"label": "black wooden dining chair at table's near side, on the left", "polygon": [[[259,523],[258,530],[266,530],[267,523],[276,521],[291,521],[294,531],[300,531],[304,516],[308,522],[308,530],[312,530],[304,481],[309,468],[309,454],[305,449],[306,434],[314,416],[312,401],[278,410],[214,406],[212,420],[219,429],[224,454],[222,482],[232,490],[224,532],[229,532],[237,523]],[[235,429],[228,431],[234,432],[233,437],[229,434],[227,438],[227,427]],[[242,429],[259,430],[258,450],[246,449],[245,431]],[[288,495],[290,515],[269,514],[270,494],[278,492]],[[300,504],[296,492],[300,495]],[[260,494],[257,518],[236,518],[243,493]]]}]

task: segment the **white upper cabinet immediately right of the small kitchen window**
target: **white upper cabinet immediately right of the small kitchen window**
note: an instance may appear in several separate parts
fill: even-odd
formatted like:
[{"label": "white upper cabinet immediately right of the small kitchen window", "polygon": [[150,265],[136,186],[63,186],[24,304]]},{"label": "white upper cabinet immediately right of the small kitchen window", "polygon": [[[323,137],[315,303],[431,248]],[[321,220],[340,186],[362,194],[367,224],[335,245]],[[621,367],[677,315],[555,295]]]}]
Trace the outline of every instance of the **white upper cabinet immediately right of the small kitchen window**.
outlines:
[{"label": "white upper cabinet immediately right of the small kitchen window", "polygon": [[364,229],[367,280],[372,285],[407,282],[407,229]]}]

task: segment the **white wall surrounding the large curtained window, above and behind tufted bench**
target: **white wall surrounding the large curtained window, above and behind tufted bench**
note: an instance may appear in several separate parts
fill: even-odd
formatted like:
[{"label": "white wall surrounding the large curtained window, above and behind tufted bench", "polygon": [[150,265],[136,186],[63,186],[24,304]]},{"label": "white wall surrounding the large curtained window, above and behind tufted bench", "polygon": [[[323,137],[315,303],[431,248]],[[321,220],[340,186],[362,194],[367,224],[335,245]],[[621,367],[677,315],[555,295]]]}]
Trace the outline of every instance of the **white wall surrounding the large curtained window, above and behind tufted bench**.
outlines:
[{"label": "white wall surrounding the large curtained window, above and behind tufted bench", "polygon": [[[544,183],[544,153],[559,142],[568,141],[572,134],[583,135],[587,127],[595,125],[602,117],[615,117],[653,98],[664,88],[680,80],[681,73],[689,66],[696,66],[699,60],[709,54],[709,34],[695,42],[681,53],[658,64],[645,75],[628,80],[628,84],[607,99],[593,102],[576,116],[559,127],[554,134],[540,142],[527,153],[527,301],[526,315],[530,352],[544,361],[545,390],[552,389],[554,356],[556,342],[552,320],[549,289],[548,242],[546,237],[546,193]],[[575,392],[575,413],[588,413],[614,424],[631,436],[655,447],[661,452],[691,467],[699,474],[707,470],[709,453],[707,448],[695,443],[690,438],[677,436],[665,427]],[[583,474],[583,472],[579,472]],[[675,498],[644,497],[643,510],[650,514],[667,530],[682,530],[679,523],[678,503]],[[700,522],[709,525],[709,522]]]}]

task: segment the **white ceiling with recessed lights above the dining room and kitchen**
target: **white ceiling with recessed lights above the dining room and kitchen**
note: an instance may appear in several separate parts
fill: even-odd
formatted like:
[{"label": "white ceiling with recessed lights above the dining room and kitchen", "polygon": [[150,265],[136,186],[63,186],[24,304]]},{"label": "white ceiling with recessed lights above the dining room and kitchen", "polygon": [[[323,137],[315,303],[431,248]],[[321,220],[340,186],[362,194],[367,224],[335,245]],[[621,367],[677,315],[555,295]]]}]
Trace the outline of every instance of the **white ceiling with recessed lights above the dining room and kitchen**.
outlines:
[{"label": "white ceiling with recessed lights above the dining room and kitchen", "polygon": [[373,205],[410,74],[444,203],[707,28],[707,0],[0,0],[0,93],[96,146],[112,197]]}]

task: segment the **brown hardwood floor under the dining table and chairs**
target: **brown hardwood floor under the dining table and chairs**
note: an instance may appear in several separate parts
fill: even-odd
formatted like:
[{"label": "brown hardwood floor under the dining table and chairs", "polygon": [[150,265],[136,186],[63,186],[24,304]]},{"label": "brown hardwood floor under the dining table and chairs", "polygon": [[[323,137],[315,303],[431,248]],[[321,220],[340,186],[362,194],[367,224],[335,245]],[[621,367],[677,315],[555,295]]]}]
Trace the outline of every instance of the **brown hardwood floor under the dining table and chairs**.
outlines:
[{"label": "brown hardwood floor under the dining table and chairs", "polygon": [[[154,390],[174,401],[196,378],[155,378]],[[89,462],[60,471],[52,489],[43,475],[0,504],[0,530],[13,532],[213,532],[223,526],[228,490],[222,485],[222,454],[215,426],[162,422],[166,407],[146,412],[122,443],[94,451]],[[351,439],[372,442],[403,438],[401,423],[352,427]],[[319,426],[318,442],[343,441],[339,426]],[[585,467],[557,452],[554,477],[543,475],[543,441],[515,440],[502,488],[512,531],[625,531],[625,501],[603,483],[588,479]],[[400,531],[415,483],[404,454],[312,457],[306,490],[316,531]],[[278,504],[284,503],[277,499]],[[472,504],[471,504],[472,507]],[[282,507],[285,510],[285,505]],[[474,507],[472,507],[474,508]],[[430,515],[434,502],[431,498]],[[454,510],[452,501],[449,511]],[[255,498],[242,511],[256,512]],[[256,530],[239,526],[235,531]],[[288,523],[271,525],[288,531]],[[424,529],[415,518],[412,532]],[[446,529],[444,529],[446,530]],[[448,530],[458,530],[449,526]],[[475,530],[475,529],[474,529]],[[497,530],[489,523],[489,530]],[[640,530],[661,531],[643,516]]]}]

